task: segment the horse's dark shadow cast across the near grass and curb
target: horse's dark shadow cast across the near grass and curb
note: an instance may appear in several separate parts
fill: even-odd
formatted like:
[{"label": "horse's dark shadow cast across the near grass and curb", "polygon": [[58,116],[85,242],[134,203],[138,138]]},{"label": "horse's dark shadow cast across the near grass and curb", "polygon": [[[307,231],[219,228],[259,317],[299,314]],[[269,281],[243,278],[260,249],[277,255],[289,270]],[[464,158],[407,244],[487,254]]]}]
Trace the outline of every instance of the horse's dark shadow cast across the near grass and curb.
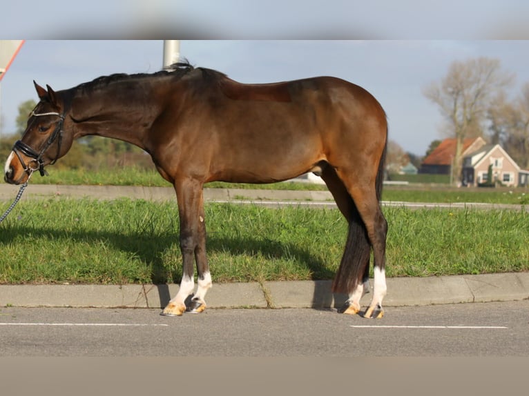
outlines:
[{"label": "horse's dark shadow cast across the near grass and curb", "polygon": [[[142,261],[146,266],[151,266],[151,281],[157,287],[160,296],[160,306],[165,306],[171,295],[168,285],[168,268],[164,263],[164,255],[168,250],[178,251],[178,233],[165,233],[163,235],[142,235],[110,232],[106,230],[54,230],[46,227],[17,226],[15,228],[0,228],[0,245],[11,243],[18,237],[27,235],[40,235],[50,241],[69,239],[71,241],[84,241],[90,244],[110,244],[125,253],[131,253]],[[313,274],[314,296],[313,308],[328,308],[332,302],[340,304],[340,296],[333,295],[330,290],[329,279],[334,277],[334,272],[325,263],[311,254],[309,250],[296,246],[295,244],[282,244],[273,239],[260,239],[257,237],[231,238],[223,237],[214,233],[209,235],[206,242],[206,250],[209,253],[227,252],[230,255],[260,255],[260,257],[286,257],[294,259],[298,265],[305,266]],[[215,268],[211,268],[215,273]],[[174,283],[180,283],[182,273],[181,266],[170,269],[169,277]],[[326,281],[327,280],[327,281]],[[338,301],[336,301],[338,298]]]}]

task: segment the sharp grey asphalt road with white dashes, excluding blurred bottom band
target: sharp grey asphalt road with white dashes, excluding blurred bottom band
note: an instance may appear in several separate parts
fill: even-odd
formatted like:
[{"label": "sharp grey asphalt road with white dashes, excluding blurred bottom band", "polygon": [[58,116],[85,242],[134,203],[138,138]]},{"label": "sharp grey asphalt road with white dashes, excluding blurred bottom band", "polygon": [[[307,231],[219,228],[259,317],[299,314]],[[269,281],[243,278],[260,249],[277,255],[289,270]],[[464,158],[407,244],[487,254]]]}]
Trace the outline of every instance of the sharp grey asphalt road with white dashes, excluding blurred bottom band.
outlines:
[{"label": "sharp grey asphalt road with white dashes, excluding blurred bottom band", "polygon": [[529,301],[316,309],[1,308],[3,357],[528,357]]}]

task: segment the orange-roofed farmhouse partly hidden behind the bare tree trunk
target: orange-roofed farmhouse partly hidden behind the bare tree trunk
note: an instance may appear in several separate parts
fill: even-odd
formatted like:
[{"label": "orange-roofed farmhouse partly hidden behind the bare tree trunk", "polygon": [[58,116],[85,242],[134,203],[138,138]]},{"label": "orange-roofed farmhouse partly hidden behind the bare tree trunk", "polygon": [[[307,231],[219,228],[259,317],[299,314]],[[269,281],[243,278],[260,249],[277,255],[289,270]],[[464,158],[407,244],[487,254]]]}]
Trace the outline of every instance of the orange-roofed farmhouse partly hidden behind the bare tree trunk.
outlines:
[{"label": "orange-roofed farmhouse partly hidden behind the bare tree trunk", "polygon": [[[470,152],[479,150],[487,142],[482,137],[465,139],[463,141],[462,157]],[[428,155],[421,164],[419,173],[428,173],[430,175],[450,175],[452,161],[456,155],[456,139],[445,139],[441,141],[430,155]]]}]

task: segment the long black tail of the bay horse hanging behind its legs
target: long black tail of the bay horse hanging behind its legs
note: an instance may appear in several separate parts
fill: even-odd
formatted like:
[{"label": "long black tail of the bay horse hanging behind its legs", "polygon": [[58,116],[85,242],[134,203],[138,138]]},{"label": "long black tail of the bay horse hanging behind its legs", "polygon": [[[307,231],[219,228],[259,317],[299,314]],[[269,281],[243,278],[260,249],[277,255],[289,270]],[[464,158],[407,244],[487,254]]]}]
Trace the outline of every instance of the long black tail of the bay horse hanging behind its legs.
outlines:
[{"label": "long black tail of the bay horse hanging behind its legs", "polygon": [[[379,203],[381,201],[384,181],[386,150],[387,143],[382,152],[381,161],[378,164],[375,181],[376,199]],[[356,204],[354,204],[352,198],[351,201],[353,207],[352,216],[349,219],[349,232],[347,234],[347,241],[345,242],[342,261],[340,262],[340,267],[332,284],[332,291],[334,293],[350,293],[356,288],[360,280],[365,280],[369,277],[371,243],[369,242],[365,224],[360,217]]]}]

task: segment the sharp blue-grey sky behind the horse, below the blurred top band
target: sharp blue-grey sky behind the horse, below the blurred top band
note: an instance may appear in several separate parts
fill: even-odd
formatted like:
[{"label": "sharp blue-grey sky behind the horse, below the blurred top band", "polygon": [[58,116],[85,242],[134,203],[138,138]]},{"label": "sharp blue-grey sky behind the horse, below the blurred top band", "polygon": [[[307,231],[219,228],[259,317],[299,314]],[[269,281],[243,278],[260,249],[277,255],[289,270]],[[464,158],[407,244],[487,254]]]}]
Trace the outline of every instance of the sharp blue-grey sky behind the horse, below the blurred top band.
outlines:
[{"label": "sharp blue-grey sky behind the horse, below the blurred top band", "polygon": [[[18,106],[37,94],[33,80],[67,89],[116,72],[156,72],[163,40],[27,40],[0,85],[3,135],[15,130]],[[423,89],[439,82],[452,61],[500,59],[516,75],[512,95],[529,82],[529,41],[485,40],[181,40],[180,55],[243,83],[331,75],[356,83],[381,102],[389,139],[424,155],[443,139],[443,119]]]}]

